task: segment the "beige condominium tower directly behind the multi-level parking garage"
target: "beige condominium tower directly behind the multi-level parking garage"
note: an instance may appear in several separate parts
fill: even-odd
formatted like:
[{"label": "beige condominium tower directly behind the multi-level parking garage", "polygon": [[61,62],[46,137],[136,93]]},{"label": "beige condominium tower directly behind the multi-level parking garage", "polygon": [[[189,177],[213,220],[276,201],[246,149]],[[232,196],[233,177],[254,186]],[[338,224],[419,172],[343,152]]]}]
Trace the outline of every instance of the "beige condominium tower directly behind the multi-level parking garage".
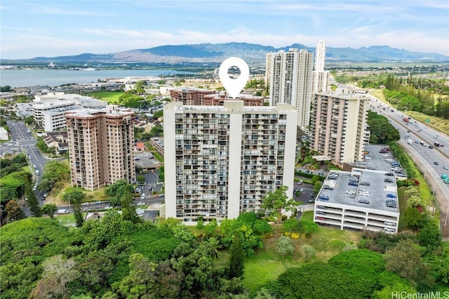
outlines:
[{"label": "beige condominium tower directly behind the multi-level parking garage", "polygon": [[311,147],[334,164],[363,158],[368,98],[360,93],[316,93],[311,120]]}]

